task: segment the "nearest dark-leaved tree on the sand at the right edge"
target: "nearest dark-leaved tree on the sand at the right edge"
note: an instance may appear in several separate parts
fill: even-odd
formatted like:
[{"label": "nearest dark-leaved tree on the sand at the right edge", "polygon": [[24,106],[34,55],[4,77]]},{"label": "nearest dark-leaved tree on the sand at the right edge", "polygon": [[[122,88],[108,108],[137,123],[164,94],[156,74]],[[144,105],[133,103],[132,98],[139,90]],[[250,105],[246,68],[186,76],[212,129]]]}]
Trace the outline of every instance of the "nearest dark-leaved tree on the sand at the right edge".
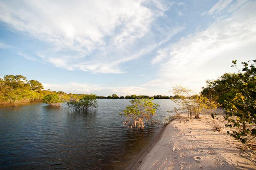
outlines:
[{"label": "nearest dark-leaved tree on the sand at the right edge", "polygon": [[[231,67],[237,68],[236,60],[232,62]],[[235,76],[239,83],[229,89],[232,95],[223,99],[223,106],[229,122],[226,126],[238,128],[231,135],[242,143],[251,144],[256,140],[256,129],[252,126],[256,124],[256,59],[242,64],[243,69],[237,68],[239,72]]]}]

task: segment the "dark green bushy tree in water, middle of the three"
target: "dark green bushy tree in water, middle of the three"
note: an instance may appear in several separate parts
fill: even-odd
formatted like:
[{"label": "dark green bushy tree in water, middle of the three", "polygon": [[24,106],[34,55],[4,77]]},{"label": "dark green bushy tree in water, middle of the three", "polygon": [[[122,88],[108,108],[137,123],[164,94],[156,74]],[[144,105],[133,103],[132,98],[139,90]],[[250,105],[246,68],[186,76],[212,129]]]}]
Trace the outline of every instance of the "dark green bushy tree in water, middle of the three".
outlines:
[{"label": "dark green bushy tree in water, middle of the three", "polygon": [[82,99],[79,101],[71,101],[68,102],[68,107],[73,108],[75,111],[83,111],[87,112],[88,108],[97,108],[98,102],[96,100],[96,95],[90,94],[85,95]]}]

